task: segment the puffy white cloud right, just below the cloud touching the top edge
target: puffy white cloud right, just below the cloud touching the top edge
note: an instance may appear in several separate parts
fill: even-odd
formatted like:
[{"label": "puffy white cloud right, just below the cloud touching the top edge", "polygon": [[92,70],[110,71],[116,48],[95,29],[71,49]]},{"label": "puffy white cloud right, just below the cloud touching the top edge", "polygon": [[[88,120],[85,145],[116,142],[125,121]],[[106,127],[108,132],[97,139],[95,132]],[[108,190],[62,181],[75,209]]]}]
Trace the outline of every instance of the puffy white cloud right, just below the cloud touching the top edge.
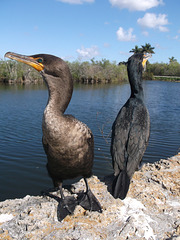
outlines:
[{"label": "puffy white cloud right, just below the cloud touching the top edge", "polygon": [[168,23],[166,14],[146,13],[143,18],[139,18],[137,23],[142,27],[159,29],[161,32],[167,32],[168,28],[165,26]]}]

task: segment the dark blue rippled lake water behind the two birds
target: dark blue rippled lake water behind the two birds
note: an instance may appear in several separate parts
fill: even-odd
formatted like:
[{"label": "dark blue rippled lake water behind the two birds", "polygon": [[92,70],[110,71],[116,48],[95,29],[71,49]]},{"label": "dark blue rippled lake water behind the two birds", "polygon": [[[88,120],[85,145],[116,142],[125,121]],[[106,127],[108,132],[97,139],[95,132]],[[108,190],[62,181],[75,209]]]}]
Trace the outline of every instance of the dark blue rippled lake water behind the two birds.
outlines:
[{"label": "dark blue rippled lake water behind the two birds", "polygon": [[[167,158],[180,147],[180,84],[144,81],[151,135],[144,162]],[[93,173],[111,174],[112,123],[130,95],[129,84],[77,85],[67,113],[85,122],[95,138]],[[52,187],[42,147],[41,121],[48,93],[44,85],[0,86],[0,201],[38,195]]]}]

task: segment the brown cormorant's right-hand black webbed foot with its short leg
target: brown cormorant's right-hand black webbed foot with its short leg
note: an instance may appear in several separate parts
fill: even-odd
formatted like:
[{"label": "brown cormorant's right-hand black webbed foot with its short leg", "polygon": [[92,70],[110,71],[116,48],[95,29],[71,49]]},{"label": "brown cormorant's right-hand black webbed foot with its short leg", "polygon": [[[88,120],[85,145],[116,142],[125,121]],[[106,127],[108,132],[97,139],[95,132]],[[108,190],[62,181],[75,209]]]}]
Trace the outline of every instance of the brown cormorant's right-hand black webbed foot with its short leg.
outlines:
[{"label": "brown cormorant's right-hand black webbed foot with its short leg", "polygon": [[81,207],[83,207],[85,210],[89,210],[89,211],[97,211],[102,213],[102,207],[99,203],[99,201],[97,200],[97,198],[94,196],[94,194],[92,193],[92,191],[90,190],[88,184],[87,184],[87,180],[85,180],[86,183],[86,192],[82,193],[79,195],[78,201],[79,201],[79,205]]}]

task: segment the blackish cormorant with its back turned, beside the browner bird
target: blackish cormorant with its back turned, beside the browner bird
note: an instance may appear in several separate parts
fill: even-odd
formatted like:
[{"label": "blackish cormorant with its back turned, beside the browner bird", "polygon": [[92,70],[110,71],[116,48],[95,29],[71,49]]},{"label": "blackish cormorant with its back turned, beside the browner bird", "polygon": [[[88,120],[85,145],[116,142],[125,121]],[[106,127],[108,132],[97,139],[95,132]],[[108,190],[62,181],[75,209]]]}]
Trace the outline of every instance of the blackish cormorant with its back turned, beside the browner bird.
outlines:
[{"label": "blackish cormorant with its back turned, beside the browner bird", "polygon": [[114,198],[126,197],[131,177],[138,169],[148,145],[150,118],[143,101],[142,71],[150,56],[143,53],[134,54],[127,62],[131,96],[119,111],[112,126]]}]

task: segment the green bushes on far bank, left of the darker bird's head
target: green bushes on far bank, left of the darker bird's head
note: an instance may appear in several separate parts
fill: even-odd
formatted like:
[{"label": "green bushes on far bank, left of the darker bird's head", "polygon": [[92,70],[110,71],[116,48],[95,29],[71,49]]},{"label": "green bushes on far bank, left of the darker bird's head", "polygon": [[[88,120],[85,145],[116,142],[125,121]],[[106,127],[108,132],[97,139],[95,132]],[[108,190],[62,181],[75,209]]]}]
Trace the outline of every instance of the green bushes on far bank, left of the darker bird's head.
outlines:
[{"label": "green bushes on far bank, left of the darker bird's head", "polygon": [[[67,62],[74,82],[79,83],[109,83],[127,81],[127,68],[118,66],[116,62],[102,59],[90,62]],[[0,82],[28,83],[42,82],[41,75],[26,64],[12,60],[0,61]]]}]

